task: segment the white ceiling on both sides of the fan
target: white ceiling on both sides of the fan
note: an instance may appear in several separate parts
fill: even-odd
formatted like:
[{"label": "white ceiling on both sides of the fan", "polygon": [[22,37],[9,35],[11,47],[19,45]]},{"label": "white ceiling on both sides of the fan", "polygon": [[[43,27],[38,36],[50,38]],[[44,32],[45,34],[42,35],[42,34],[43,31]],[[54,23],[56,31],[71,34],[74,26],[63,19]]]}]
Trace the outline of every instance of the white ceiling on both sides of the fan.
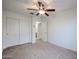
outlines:
[{"label": "white ceiling on both sides of the fan", "polygon": [[[2,8],[4,10],[25,13],[27,12],[26,8],[33,7],[33,3],[36,0],[2,0]],[[56,12],[66,10],[69,8],[77,7],[76,0],[45,0],[47,2],[48,8],[55,8]]]}]

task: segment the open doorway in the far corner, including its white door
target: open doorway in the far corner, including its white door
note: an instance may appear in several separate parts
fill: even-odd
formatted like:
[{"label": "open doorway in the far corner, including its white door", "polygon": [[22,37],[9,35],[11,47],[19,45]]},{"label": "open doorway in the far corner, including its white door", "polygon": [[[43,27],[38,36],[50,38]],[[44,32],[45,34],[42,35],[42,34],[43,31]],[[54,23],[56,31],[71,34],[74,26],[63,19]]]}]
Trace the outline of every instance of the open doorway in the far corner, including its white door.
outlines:
[{"label": "open doorway in the far corner, including its white door", "polygon": [[43,21],[35,21],[34,22],[34,29],[33,29],[33,41],[40,42],[40,41],[47,41],[47,22]]}]

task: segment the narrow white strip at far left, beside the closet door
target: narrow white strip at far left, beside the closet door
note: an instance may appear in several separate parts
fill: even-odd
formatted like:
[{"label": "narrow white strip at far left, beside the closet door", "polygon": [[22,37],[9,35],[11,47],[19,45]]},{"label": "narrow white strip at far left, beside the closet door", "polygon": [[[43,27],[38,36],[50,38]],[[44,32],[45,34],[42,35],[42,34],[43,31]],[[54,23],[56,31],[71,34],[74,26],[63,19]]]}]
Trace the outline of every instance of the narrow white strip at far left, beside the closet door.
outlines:
[{"label": "narrow white strip at far left, beside the closet door", "polygon": [[2,49],[7,47],[6,40],[6,13],[2,12]]}]

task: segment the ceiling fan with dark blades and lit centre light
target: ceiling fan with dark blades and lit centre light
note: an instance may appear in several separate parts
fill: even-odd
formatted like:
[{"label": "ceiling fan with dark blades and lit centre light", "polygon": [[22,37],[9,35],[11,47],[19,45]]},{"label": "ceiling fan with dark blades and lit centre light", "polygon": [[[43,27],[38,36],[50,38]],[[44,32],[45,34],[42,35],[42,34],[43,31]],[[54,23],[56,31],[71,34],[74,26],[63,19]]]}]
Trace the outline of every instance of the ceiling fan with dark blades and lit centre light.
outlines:
[{"label": "ceiling fan with dark blades and lit centre light", "polygon": [[[49,14],[47,12],[55,12],[55,9],[46,9],[45,5],[42,2],[40,2],[40,1],[38,1],[37,4],[38,4],[38,9],[27,8],[28,10],[36,11],[37,12],[36,16],[43,15],[43,14],[45,14],[46,16],[49,16]],[[33,15],[34,13],[31,12],[30,14]]]}]

